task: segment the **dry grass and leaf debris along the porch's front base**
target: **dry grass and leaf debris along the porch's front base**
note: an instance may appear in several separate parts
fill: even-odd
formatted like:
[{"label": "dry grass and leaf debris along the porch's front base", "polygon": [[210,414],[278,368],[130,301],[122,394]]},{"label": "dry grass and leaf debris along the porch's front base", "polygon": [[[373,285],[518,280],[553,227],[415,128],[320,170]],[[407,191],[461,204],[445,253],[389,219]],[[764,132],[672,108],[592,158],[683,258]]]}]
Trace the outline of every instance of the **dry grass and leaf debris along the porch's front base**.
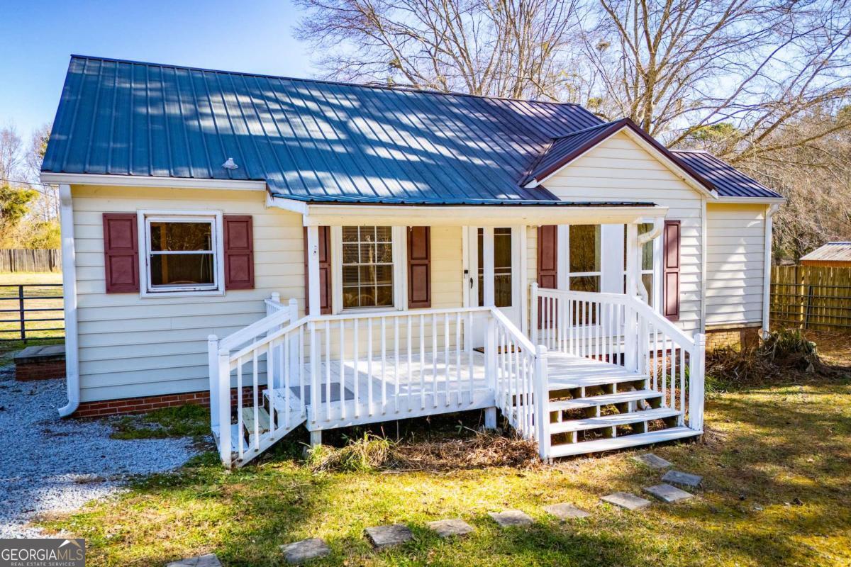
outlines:
[{"label": "dry grass and leaf debris along the porch's front base", "polygon": [[540,466],[532,441],[498,432],[471,431],[462,439],[392,441],[373,434],[340,448],[311,450],[307,467],[314,472],[369,470],[443,472],[488,467]]}]

